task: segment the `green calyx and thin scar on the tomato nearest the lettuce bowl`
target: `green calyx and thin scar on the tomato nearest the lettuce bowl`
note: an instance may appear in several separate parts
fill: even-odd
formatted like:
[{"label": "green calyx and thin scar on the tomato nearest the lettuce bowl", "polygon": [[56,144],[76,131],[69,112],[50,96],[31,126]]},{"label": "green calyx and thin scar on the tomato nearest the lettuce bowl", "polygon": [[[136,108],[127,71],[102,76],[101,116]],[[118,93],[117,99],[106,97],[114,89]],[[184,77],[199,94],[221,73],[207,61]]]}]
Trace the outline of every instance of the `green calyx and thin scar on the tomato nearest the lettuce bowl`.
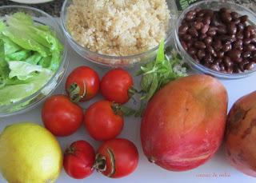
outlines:
[{"label": "green calyx and thin scar on the tomato nearest the lettuce bowl", "polygon": [[72,83],[68,88],[68,93],[70,95],[70,101],[78,103],[83,97],[86,97],[86,83],[83,83],[83,93],[80,95],[80,86],[76,82]]}]

